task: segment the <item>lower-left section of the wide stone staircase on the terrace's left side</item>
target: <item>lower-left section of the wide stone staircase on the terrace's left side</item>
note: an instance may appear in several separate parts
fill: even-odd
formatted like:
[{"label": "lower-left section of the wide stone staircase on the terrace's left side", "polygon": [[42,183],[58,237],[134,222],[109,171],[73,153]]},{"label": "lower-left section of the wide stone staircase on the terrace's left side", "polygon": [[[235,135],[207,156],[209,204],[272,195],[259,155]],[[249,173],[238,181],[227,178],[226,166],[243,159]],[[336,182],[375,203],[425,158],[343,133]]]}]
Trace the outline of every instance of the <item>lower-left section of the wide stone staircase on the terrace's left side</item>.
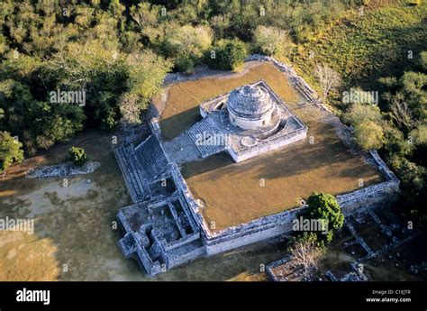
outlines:
[{"label": "lower-left section of the wide stone staircase on the terrace's left side", "polygon": [[123,172],[124,181],[134,203],[141,202],[150,197],[150,188],[143,178],[139,161],[135,155],[133,145],[123,145],[114,151],[119,167]]}]

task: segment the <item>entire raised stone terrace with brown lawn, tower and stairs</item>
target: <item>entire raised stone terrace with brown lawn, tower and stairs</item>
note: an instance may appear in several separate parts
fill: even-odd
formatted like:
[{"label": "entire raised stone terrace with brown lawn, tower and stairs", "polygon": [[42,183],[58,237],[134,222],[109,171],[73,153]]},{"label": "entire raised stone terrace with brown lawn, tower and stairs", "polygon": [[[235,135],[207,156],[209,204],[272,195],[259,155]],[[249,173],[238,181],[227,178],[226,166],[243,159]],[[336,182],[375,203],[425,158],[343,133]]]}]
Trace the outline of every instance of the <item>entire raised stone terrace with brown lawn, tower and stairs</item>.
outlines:
[{"label": "entire raised stone terrace with brown lawn, tower and stairs", "polygon": [[276,59],[253,56],[240,74],[165,90],[149,138],[115,152],[134,202],[118,214],[119,245],[150,275],[288,233],[313,191],[337,196],[350,214],[398,188],[377,153],[360,151]]}]

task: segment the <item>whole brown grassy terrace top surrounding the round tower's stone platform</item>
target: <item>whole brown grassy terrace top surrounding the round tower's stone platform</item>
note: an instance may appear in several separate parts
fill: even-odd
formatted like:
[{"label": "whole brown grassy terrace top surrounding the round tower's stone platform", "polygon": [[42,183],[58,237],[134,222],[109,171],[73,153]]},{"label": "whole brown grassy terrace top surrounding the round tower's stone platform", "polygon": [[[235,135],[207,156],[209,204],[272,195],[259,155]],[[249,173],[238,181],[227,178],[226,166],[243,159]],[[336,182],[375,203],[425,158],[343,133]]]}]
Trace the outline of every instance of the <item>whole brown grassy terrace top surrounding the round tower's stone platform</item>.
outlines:
[{"label": "whole brown grassy terrace top surrounding the round tower's stone platform", "polygon": [[293,208],[298,198],[313,191],[338,195],[357,189],[359,178],[364,186],[382,179],[341,142],[330,123],[321,121],[318,108],[297,105],[299,96],[283,73],[270,64],[253,67],[237,78],[205,78],[174,85],[162,115],[162,132],[168,138],[176,136],[200,117],[200,102],[261,78],[308,125],[307,136],[313,136],[314,143],[297,142],[241,163],[234,163],[227,154],[186,163],[183,174],[195,197],[203,199],[204,217],[215,223],[213,231]]}]

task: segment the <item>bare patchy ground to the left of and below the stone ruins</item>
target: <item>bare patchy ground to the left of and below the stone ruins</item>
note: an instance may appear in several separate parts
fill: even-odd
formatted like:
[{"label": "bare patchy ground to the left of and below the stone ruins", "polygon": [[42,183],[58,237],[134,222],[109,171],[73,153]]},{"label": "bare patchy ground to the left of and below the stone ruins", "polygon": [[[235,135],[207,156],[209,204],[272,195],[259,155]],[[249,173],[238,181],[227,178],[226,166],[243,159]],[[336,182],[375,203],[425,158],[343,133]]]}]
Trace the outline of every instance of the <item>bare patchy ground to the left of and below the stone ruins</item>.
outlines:
[{"label": "bare patchy ground to the left of and below the stone ruins", "polygon": [[[261,264],[283,257],[284,242],[260,242],[148,278],[136,261],[124,259],[116,244],[122,233],[112,228],[118,209],[131,204],[113,155],[114,134],[83,133],[0,180],[0,219],[33,218],[35,226],[33,235],[0,232],[0,280],[258,280],[265,278]],[[68,178],[68,187],[62,178],[23,178],[35,165],[65,160],[70,145],[85,148],[100,168]]]}]

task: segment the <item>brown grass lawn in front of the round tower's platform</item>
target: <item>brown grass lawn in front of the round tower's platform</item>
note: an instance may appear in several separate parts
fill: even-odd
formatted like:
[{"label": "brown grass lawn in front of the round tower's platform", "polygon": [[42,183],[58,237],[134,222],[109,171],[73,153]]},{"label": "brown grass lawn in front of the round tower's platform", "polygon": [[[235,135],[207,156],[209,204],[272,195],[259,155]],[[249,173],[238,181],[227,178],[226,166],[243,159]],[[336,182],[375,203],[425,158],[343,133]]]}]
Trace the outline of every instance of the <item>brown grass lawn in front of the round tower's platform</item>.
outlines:
[{"label": "brown grass lawn in front of the round tower's platform", "polygon": [[[313,191],[338,195],[381,181],[377,171],[352,154],[331,125],[309,128],[316,142],[283,148],[272,154],[234,163],[216,155],[187,163],[184,176],[195,197],[204,200],[204,217],[215,230],[272,215],[297,206]],[[261,178],[265,186],[261,187]]]}]

